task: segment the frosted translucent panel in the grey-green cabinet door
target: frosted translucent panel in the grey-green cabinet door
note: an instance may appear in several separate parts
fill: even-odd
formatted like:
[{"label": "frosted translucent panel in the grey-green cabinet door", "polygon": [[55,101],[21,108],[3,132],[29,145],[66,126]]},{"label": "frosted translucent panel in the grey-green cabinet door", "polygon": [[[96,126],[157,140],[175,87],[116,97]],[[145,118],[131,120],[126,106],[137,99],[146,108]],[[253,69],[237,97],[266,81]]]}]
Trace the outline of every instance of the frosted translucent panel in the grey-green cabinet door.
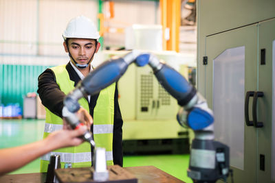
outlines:
[{"label": "frosted translucent panel in the grey-green cabinet door", "polygon": [[230,164],[243,170],[245,47],[226,49],[213,60],[214,136],[230,147]]}]

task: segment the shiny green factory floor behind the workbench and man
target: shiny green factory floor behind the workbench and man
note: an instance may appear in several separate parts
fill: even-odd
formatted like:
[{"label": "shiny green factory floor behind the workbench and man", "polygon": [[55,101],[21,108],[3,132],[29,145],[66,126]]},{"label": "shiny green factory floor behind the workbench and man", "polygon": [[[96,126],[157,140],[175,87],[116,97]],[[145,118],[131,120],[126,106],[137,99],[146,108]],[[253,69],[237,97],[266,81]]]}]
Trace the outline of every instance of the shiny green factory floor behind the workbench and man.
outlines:
[{"label": "shiny green factory floor behind the workbench and man", "polygon": [[[42,139],[44,120],[0,119],[0,149],[32,143]],[[23,152],[22,152],[23,153]],[[167,154],[150,156],[124,156],[124,167],[153,165],[184,182],[192,182],[187,177],[188,154]],[[39,172],[39,159],[25,165],[11,174]]]}]

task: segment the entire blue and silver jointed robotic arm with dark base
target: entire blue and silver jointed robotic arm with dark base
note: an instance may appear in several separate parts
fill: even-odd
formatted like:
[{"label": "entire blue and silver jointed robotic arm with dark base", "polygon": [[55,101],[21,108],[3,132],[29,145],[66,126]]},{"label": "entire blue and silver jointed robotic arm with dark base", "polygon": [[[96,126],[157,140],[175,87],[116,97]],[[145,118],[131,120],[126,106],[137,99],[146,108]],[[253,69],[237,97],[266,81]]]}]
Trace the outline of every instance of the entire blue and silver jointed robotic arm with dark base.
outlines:
[{"label": "entire blue and silver jointed robotic arm with dark base", "polygon": [[[137,66],[146,64],[151,66],[159,83],[177,99],[177,103],[181,106],[177,114],[179,124],[190,127],[195,132],[190,152],[188,176],[194,182],[226,180],[229,174],[229,147],[214,141],[212,110],[208,108],[206,100],[182,75],[160,62],[153,54],[134,50],[121,58],[100,64],[65,97],[63,116],[72,127],[80,125],[80,121],[75,115],[80,108],[78,99],[98,93],[118,81],[132,63]],[[95,146],[91,132],[87,131],[83,138]]]}]

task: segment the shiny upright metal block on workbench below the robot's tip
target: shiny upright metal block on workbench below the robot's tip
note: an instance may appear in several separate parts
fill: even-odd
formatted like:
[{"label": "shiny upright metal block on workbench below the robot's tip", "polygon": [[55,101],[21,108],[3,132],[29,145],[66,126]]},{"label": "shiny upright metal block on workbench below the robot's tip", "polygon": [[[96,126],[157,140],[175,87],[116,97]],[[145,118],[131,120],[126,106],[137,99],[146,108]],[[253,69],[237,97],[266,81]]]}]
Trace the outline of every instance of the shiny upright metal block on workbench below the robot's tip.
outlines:
[{"label": "shiny upright metal block on workbench below the robot's tip", "polygon": [[107,170],[106,150],[101,147],[95,149],[94,154],[94,176],[95,181],[105,181],[109,179]]}]

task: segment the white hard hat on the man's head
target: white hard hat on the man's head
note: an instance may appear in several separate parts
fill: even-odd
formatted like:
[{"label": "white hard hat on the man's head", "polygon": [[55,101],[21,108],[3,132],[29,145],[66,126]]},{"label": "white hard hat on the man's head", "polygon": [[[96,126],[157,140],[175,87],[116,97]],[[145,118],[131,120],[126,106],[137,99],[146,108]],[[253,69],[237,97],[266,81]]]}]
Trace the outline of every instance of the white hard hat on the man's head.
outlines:
[{"label": "white hard hat on the man's head", "polygon": [[96,25],[86,16],[76,16],[76,18],[69,21],[64,33],[63,38],[87,38],[96,39],[100,38]]}]

